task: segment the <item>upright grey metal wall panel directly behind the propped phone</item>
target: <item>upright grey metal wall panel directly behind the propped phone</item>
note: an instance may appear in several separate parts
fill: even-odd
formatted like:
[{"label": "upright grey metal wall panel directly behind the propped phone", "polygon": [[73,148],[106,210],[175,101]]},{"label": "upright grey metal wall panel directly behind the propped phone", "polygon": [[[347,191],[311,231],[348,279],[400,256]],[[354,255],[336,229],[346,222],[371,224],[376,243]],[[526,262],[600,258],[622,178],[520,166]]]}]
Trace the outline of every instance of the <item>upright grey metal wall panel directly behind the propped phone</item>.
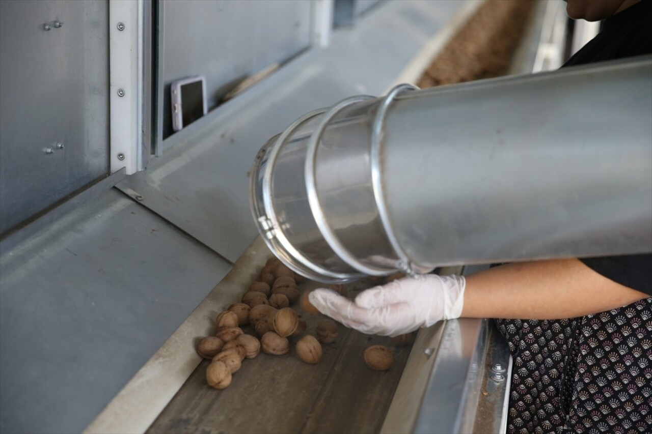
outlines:
[{"label": "upright grey metal wall panel directly behind the propped phone", "polygon": [[172,134],[172,81],[205,76],[210,110],[244,77],[310,45],[310,7],[286,0],[162,1],[162,137]]}]

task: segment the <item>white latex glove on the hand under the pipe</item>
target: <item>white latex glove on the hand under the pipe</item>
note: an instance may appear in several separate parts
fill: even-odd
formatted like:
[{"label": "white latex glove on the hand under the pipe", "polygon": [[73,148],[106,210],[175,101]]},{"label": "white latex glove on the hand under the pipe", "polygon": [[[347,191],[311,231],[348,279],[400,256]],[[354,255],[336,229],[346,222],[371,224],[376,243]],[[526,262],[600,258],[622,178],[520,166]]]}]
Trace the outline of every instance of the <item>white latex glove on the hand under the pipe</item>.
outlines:
[{"label": "white latex glove on the hand under the pipe", "polygon": [[352,302],[331,289],[308,298],[323,314],[366,334],[398,336],[462,314],[466,280],[426,274],[406,277],[359,293]]}]

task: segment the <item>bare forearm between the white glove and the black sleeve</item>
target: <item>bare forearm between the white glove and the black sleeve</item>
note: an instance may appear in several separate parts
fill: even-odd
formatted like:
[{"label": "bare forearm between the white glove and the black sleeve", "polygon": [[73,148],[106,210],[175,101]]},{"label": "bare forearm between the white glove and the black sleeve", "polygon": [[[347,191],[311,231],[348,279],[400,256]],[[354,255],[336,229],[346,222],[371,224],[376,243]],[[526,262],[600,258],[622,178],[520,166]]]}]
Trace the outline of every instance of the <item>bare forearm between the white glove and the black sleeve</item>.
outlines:
[{"label": "bare forearm between the white glove and the black sleeve", "polygon": [[467,276],[462,317],[570,318],[645,297],[601,276],[578,259],[512,263]]}]

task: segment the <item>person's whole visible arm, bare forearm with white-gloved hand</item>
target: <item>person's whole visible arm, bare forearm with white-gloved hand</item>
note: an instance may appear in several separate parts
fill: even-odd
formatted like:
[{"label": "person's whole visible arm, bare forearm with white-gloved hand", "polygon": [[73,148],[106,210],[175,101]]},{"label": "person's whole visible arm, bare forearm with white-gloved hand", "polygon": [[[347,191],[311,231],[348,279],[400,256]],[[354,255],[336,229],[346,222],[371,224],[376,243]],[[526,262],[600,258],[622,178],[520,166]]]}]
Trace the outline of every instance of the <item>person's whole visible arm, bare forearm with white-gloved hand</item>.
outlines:
[{"label": "person's whole visible arm, bare forearm with white-gloved hand", "polygon": [[368,334],[396,336],[442,319],[561,319],[619,308],[647,297],[577,259],[512,263],[468,278],[403,278],[360,293],[355,301],[317,289],[321,313]]}]

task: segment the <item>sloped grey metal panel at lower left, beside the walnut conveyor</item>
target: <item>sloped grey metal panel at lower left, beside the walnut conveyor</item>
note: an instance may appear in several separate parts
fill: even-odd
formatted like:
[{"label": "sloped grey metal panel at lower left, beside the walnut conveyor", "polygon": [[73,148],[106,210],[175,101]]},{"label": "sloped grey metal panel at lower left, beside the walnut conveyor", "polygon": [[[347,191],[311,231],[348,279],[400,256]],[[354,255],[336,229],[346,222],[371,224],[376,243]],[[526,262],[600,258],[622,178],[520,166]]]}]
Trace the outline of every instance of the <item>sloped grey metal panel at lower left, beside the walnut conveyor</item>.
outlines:
[{"label": "sloped grey metal panel at lower left, beside the walnut conveyor", "polygon": [[0,257],[1,432],[80,432],[230,270],[109,190]]}]

